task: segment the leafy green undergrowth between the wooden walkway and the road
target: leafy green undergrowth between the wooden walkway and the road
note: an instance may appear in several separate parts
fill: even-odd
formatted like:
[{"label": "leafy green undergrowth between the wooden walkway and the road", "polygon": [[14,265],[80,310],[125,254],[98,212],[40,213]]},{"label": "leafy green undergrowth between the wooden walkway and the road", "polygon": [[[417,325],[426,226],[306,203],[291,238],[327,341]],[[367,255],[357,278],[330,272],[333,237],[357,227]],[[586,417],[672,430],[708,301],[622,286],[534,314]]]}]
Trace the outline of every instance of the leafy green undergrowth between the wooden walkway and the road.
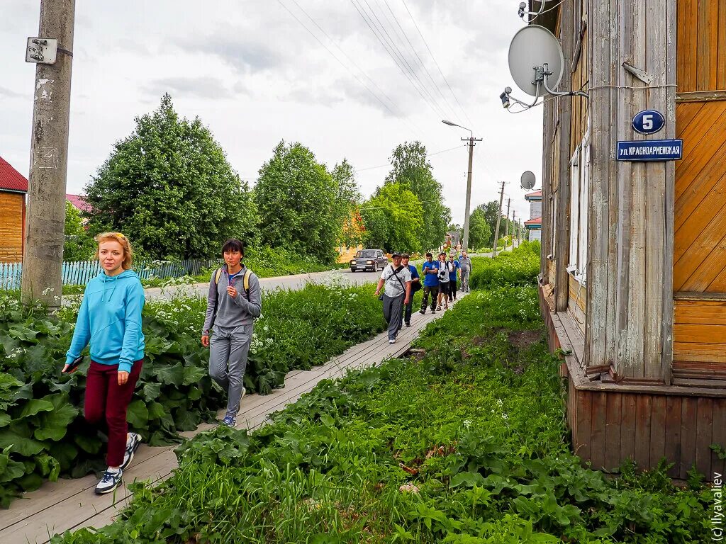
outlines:
[{"label": "leafy green undergrowth between the wooden walkway and the road", "polygon": [[[327,362],[385,325],[371,287],[309,285],[266,294],[245,374],[248,391],[281,387],[293,368]],[[144,367],[129,405],[131,429],[150,445],[179,441],[178,432],[213,421],[222,403],[200,345],[205,300],[148,302]],[[78,308],[49,316],[0,294],[0,506],[61,474],[81,477],[105,467],[102,442],[83,419],[89,362],[60,370]],[[86,352],[87,353],[87,352]]]}]

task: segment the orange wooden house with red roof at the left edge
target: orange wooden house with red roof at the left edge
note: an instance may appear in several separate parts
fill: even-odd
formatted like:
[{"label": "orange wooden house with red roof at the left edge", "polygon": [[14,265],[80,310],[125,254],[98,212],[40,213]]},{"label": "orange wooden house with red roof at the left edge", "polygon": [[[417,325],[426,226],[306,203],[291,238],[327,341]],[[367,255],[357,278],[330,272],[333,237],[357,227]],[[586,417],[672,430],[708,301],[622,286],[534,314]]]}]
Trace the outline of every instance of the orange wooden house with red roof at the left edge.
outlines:
[{"label": "orange wooden house with red roof at the left edge", "polygon": [[20,263],[25,244],[28,180],[0,157],[0,263]]}]

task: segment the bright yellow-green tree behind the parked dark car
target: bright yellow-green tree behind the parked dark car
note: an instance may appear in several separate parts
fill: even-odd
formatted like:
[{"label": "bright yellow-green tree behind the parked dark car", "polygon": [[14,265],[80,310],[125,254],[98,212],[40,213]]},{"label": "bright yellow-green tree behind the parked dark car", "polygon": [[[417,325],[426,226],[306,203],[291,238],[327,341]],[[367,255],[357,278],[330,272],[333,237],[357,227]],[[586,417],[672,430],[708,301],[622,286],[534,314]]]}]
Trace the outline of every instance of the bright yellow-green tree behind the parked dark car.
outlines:
[{"label": "bright yellow-green tree behind the parked dark car", "polygon": [[401,184],[384,184],[363,206],[369,247],[387,252],[421,250],[423,207],[418,197]]}]

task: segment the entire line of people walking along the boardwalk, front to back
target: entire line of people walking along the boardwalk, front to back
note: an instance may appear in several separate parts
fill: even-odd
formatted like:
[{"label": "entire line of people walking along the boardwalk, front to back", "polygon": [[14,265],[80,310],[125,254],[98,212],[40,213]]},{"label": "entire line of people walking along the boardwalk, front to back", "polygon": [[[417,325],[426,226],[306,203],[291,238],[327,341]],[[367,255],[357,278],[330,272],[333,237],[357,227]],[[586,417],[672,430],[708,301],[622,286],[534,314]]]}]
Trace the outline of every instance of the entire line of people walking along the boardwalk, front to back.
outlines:
[{"label": "entire line of people walking along the boardwalk, front to back", "polygon": [[[83,414],[89,424],[99,426],[107,434],[108,468],[95,489],[101,495],[121,485],[123,471],[142,441],[139,434],[129,432],[126,410],[144,364],[145,297],[139,276],[131,270],[133,251],[129,239],[120,232],[106,232],[99,234],[96,241],[96,258],[102,271],[86,285],[62,372],[76,371],[83,360],[81,353],[90,345]],[[262,298],[258,277],[242,262],[244,244],[229,239],[221,254],[224,265],[211,274],[200,341],[210,350],[211,379],[227,391],[222,424],[235,426],[245,396],[247,358]],[[411,326],[416,291],[423,289],[420,313],[426,312],[430,295],[431,311],[442,307],[445,310],[449,302],[456,300],[458,279],[462,291],[469,290],[471,269],[465,251],[458,259],[455,254],[449,255],[448,260],[441,252],[438,261],[427,253],[421,274],[409,264],[409,255],[393,253],[393,264],[384,268],[376,289],[376,294],[383,289],[380,299],[388,321],[388,342],[396,342],[403,323]]]}]

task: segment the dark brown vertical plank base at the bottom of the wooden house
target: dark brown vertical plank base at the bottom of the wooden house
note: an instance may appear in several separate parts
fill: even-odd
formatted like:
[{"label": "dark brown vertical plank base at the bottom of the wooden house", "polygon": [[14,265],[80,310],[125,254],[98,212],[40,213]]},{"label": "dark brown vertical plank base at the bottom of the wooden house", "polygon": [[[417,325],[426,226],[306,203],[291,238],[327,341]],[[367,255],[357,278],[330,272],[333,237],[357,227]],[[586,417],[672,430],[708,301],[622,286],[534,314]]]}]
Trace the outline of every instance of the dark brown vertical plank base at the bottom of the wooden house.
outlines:
[{"label": "dark brown vertical plank base at the bottom of the wooden house", "polygon": [[571,380],[568,390],[573,448],[593,469],[627,458],[653,468],[665,457],[672,478],[687,479],[693,463],[706,479],[726,474],[710,448],[726,447],[726,398],[576,390]]}]

